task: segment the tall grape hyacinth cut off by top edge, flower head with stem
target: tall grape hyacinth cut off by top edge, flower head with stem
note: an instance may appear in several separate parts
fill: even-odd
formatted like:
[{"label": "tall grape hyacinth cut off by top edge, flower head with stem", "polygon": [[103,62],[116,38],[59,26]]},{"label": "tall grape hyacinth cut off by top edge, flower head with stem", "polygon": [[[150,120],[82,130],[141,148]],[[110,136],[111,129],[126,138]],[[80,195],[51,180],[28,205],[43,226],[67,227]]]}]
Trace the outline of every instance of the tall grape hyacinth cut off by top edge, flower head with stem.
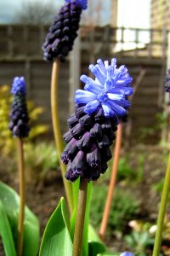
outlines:
[{"label": "tall grape hyacinth cut off by top edge, flower head with stem", "polygon": [[[54,139],[59,155],[63,151],[62,136],[59,125],[59,61],[65,61],[77,38],[77,30],[81,19],[82,9],[87,9],[87,0],[65,0],[65,4],[54,18],[54,23],[49,27],[45,42],[42,45],[45,61],[54,61],[51,76],[51,112],[54,130]],[[60,169],[65,186],[65,195],[70,212],[73,211],[73,192],[71,183],[65,181],[65,166],[60,161]]]}]

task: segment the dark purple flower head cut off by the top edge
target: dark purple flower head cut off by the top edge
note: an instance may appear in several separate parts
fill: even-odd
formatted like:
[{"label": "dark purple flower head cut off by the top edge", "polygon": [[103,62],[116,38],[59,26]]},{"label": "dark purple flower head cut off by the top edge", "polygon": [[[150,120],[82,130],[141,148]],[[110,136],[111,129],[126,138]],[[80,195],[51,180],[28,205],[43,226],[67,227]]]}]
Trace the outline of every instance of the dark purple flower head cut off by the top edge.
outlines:
[{"label": "dark purple flower head cut off by the top edge", "polygon": [[82,9],[87,9],[88,0],[65,0],[65,4],[54,18],[52,26],[42,44],[43,58],[45,61],[54,61],[65,57],[71,51],[81,19]]}]

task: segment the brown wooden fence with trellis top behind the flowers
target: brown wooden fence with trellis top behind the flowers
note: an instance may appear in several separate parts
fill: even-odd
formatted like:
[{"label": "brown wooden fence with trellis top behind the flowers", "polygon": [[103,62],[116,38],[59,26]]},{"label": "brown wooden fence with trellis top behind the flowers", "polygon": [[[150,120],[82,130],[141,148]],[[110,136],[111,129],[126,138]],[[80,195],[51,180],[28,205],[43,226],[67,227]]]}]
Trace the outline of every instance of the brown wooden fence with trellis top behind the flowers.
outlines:
[{"label": "brown wooden fence with trellis top behind the flowers", "polygon": [[[11,84],[14,76],[24,75],[29,98],[37,106],[45,108],[41,122],[50,125],[52,64],[42,60],[41,49],[47,31],[47,26],[0,26],[0,84]],[[127,32],[133,32],[132,40],[127,40]],[[117,33],[119,38],[116,37]],[[143,38],[144,33],[148,41]],[[111,59],[115,56],[118,66],[126,64],[128,67],[133,84],[139,84],[129,112],[129,140],[132,142],[141,140],[142,127],[146,128],[145,131],[150,131],[156,126],[156,113],[162,111],[163,81],[167,69],[167,34],[168,31],[165,30],[110,26],[80,29],[81,48],[77,49],[77,54],[81,59],[81,63],[78,63],[81,65],[81,73],[88,74],[89,63],[95,63],[99,57]],[[63,132],[67,129],[65,120],[69,115],[69,68],[68,57],[59,69],[59,114]],[[141,73],[144,75],[138,83]],[[148,135],[146,141],[155,143],[158,137],[159,133],[156,131]]]}]

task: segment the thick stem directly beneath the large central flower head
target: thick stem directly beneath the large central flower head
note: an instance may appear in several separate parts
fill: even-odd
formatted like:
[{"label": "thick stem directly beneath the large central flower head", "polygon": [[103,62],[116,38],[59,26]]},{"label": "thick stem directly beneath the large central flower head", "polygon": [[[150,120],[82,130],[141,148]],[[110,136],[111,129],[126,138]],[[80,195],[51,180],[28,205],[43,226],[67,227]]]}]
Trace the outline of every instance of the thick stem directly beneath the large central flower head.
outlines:
[{"label": "thick stem directly beneath the large central flower head", "polygon": [[83,229],[84,229],[87,193],[88,193],[88,181],[84,179],[80,179],[78,204],[77,204],[77,218],[76,218],[76,224],[75,224],[72,256],[81,256],[82,254],[82,235],[83,235]]}]

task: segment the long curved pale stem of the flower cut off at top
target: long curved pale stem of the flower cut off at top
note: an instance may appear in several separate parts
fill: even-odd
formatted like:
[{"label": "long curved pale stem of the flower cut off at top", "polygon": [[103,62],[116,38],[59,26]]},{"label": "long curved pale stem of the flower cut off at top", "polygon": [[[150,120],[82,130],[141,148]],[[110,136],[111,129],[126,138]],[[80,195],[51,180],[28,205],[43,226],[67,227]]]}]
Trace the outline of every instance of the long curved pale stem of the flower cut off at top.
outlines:
[{"label": "long curved pale stem of the flower cut off at top", "polygon": [[[58,80],[59,80],[59,60],[56,59],[53,63],[52,76],[51,76],[51,112],[52,112],[52,123],[54,130],[54,140],[59,156],[63,152],[62,136],[59,124],[59,109],[58,109]],[[68,202],[70,213],[73,211],[73,193],[71,183],[65,179],[66,167],[62,163],[59,157],[59,165],[65,186],[65,195]]]}]

